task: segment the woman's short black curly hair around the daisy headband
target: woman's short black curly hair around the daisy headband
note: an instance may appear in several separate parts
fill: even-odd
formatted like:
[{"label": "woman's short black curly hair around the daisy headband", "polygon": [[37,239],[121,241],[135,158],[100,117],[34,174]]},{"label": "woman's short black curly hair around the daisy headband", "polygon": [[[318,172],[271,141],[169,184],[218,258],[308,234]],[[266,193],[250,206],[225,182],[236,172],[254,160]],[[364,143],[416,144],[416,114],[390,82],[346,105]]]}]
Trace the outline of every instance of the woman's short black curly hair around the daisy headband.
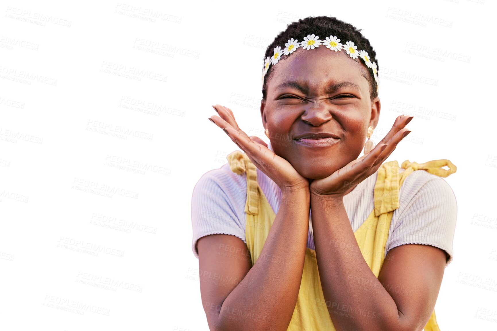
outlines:
[{"label": "woman's short black curly hair around the daisy headband", "polygon": [[[378,66],[376,52],[371,47],[369,40],[361,34],[361,30],[362,29],[356,29],[352,24],[341,21],[336,17],[310,16],[301,18],[298,20],[298,22],[289,23],[286,30],[280,32],[278,36],[274,38],[273,42],[267,47],[263,60],[265,60],[267,57],[271,58],[273,56],[274,48],[276,46],[281,46],[282,48],[284,48],[285,43],[288,42],[290,38],[303,41],[304,37],[307,37],[307,35],[314,33],[316,36],[319,36],[321,40],[324,40],[326,37],[333,35],[338,36],[340,42],[343,44],[345,44],[345,42],[349,40],[353,41],[354,44],[357,45],[357,49],[368,52],[371,63],[376,62],[376,65]],[[282,55],[281,60],[286,59],[286,57],[288,56]],[[373,100],[375,97],[378,96],[377,84],[376,80],[374,79],[373,72],[371,68],[368,68],[362,61],[359,61],[359,63],[361,63],[364,68],[367,69],[363,70],[363,75],[369,81],[369,94],[371,100]],[[262,100],[264,102],[266,101],[267,97],[267,82],[272,77],[272,67],[273,66],[269,66],[266,74],[264,75],[264,81],[262,84]],[[379,67],[377,67],[377,70],[378,69]]]}]

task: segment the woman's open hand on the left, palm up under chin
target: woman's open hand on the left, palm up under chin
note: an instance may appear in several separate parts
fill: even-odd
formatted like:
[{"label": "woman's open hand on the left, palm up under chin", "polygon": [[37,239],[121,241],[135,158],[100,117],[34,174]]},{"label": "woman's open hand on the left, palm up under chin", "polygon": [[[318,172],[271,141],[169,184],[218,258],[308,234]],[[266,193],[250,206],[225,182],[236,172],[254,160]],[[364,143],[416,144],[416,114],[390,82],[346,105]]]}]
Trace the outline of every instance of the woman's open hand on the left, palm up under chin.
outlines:
[{"label": "woman's open hand on the left, palm up under chin", "polygon": [[290,162],[267,148],[267,144],[262,139],[253,135],[249,137],[240,129],[231,109],[221,105],[212,107],[219,116],[211,116],[209,120],[223,129],[231,140],[247,154],[250,161],[273,180],[283,193],[309,191],[309,180],[302,177]]}]

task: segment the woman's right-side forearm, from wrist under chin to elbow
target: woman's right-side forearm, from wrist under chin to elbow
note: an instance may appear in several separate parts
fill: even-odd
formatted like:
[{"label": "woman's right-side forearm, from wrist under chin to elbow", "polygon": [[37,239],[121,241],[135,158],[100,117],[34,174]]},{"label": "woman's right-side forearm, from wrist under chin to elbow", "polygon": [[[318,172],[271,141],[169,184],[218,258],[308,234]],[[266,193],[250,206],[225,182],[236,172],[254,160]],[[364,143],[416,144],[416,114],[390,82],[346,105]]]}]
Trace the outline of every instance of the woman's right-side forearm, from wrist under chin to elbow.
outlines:
[{"label": "woman's right-side forearm, from wrist under chin to elbow", "polygon": [[337,331],[402,330],[393,298],[364,260],[343,199],[311,196],[323,294]]}]

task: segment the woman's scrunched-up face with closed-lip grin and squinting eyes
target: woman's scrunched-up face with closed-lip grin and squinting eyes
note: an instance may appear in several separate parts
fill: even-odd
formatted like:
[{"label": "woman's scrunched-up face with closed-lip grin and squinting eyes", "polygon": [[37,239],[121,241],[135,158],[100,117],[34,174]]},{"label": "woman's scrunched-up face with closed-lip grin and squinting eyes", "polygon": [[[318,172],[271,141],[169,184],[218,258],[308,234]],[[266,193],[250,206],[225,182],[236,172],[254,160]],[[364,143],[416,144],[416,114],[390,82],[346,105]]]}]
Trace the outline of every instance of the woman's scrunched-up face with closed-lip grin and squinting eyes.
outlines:
[{"label": "woman's scrunched-up face with closed-lip grin and squinting eyes", "polygon": [[[368,127],[378,123],[380,99],[371,100],[361,74],[371,69],[356,61],[323,46],[297,49],[271,69],[262,123],[273,151],[306,178],[325,178],[357,159]],[[331,137],[319,139],[323,133]]]}]

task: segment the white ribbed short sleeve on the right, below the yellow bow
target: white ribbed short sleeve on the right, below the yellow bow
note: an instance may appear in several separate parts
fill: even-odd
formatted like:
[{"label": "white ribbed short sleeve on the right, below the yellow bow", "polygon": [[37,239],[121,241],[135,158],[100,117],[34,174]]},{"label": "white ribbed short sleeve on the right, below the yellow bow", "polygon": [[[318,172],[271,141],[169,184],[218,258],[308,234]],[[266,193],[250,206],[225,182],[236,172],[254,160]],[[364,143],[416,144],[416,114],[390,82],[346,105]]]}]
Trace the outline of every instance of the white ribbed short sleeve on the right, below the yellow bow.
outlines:
[{"label": "white ribbed short sleeve on the right, below the yellow bow", "polygon": [[445,266],[454,256],[457,203],[454,192],[441,177],[416,170],[401,187],[401,207],[394,213],[393,231],[386,245],[388,252],[405,244],[438,247],[447,252]]}]

